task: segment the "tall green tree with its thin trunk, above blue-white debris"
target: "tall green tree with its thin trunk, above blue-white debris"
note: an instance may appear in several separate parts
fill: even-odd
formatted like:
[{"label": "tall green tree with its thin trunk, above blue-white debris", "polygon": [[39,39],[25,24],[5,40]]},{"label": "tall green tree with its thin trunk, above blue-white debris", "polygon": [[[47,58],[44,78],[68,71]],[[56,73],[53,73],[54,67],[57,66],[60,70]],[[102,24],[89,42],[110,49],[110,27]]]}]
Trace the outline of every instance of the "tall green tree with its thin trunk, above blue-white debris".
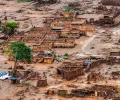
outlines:
[{"label": "tall green tree with its thin trunk, above blue-white debris", "polygon": [[[14,59],[14,69],[12,71],[12,76],[17,77],[17,62],[18,61],[27,61],[31,62],[31,49],[26,46],[23,42],[11,42],[10,46],[7,48],[6,53],[11,55]],[[17,80],[11,80],[13,84],[17,83]]]}]

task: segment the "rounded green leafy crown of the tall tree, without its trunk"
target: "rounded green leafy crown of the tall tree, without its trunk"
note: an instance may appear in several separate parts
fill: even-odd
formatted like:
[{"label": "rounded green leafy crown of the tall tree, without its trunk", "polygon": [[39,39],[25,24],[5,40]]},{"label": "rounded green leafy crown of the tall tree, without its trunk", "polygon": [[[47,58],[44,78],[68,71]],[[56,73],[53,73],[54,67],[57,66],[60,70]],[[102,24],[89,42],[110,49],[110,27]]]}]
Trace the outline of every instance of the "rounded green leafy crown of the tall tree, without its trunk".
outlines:
[{"label": "rounded green leafy crown of the tall tree, without its trunk", "polygon": [[6,53],[11,55],[15,60],[31,62],[31,49],[23,42],[11,42]]}]

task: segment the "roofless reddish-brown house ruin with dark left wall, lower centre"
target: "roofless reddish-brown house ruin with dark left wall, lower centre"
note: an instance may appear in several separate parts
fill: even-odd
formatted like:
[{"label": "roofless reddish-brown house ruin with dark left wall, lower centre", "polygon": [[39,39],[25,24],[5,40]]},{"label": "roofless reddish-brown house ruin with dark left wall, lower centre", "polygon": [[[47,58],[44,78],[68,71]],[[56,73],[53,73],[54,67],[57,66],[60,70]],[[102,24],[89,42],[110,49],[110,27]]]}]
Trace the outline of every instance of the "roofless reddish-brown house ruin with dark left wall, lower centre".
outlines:
[{"label": "roofless reddish-brown house ruin with dark left wall, lower centre", "polygon": [[57,68],[57,74],[60,75],[63,79],[72,80],[80,75],[83,75],[83,62],[63,62]]}]

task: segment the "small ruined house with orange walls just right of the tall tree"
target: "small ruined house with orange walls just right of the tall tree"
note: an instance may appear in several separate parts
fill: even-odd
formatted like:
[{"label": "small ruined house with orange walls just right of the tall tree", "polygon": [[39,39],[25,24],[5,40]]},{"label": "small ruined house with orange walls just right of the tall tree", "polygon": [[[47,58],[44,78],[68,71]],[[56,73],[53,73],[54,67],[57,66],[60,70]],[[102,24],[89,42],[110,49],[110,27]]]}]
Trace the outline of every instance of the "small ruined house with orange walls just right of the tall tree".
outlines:
[{"label": "small ruined house with orange walls just right of the tall tree", "polygon": [[37,56],[33,57],[33,62],[52,64],[54,62],[54,58],[55,55],[52,51],[40,51]]}]

